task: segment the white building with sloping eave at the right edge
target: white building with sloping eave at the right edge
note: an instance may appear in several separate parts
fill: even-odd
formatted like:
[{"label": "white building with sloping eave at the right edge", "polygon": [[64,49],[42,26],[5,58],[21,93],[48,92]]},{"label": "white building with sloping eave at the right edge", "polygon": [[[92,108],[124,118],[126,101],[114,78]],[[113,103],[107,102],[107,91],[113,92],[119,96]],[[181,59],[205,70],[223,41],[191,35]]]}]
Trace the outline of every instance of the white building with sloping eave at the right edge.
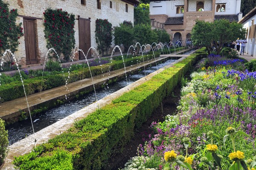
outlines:
[{"label": "white building with sloping eave at the right edge", "polygon": [[245,47],[245,53],[256,57],[256,7],[248,12],[238,23],[244,25],[246,29],[247,44]]}]

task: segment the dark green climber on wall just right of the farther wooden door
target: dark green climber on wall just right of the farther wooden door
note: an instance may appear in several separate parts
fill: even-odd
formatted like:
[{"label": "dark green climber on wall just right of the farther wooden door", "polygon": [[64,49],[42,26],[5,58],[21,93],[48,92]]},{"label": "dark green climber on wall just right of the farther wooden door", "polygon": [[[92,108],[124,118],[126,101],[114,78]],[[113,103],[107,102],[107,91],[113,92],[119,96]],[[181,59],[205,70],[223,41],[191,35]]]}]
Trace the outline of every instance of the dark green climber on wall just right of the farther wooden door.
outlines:
[{"label": "dark green climber on wall just right of the farther wooden door", "polygon": [[112,42],[112,24],[108,20],[98,19],[96,20],[95,39],[98,44],[99,53],[104,56],[108,53],[108,49]]}]

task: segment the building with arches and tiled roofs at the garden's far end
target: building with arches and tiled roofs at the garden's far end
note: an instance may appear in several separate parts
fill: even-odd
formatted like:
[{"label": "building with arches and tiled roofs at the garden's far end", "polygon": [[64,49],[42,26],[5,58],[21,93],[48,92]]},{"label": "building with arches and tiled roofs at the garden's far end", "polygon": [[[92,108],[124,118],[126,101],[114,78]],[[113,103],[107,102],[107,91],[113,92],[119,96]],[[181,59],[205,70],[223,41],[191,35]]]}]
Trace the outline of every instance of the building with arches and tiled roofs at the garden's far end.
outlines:
[{"label": "building with arches and tiled roofs at the garden's far end", "polygon": [[150,0],[150,19],[154,27],[162,26],[172,42],[185,41],[197,20],[213,22],[227,19],[238,22],[241,0]]}]

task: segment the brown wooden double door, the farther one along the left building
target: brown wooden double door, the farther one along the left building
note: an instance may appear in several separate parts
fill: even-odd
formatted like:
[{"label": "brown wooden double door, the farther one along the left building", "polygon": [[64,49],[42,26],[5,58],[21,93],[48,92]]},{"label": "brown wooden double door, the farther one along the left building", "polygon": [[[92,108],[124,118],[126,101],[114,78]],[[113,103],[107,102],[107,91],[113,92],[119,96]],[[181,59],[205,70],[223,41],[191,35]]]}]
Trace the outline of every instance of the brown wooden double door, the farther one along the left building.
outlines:
[{"label": "brown wooden double door, the farther one along the left building", "polygon": [[[79,17],[79,49],[83,50],[86,55],[90,47],[90,20]],[[80,52],[80,59],[85,59],[84,54]],[[90,50],[87,58],[91,57],[92,54]]]}]

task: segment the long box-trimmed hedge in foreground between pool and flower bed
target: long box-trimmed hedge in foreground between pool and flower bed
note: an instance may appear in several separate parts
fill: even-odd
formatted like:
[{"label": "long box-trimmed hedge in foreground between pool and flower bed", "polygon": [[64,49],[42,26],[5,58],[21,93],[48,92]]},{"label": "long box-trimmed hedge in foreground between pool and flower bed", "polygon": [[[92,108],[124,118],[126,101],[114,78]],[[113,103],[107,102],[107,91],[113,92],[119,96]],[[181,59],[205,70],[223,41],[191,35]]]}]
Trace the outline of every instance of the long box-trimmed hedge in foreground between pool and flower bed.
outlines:
[{"label": "long box-trimmed hedge in foreground between pool and flower bed", "polygon": [[134,130],[151,116],[165,96],[171,94],[183,74],[200,58],[198,56],[200,54],[183,59],[119,96],[111,104],[75,122],[67,132],[15,158],[14,164],[20,170],[105,169],[113,150],[130,141]]}]

